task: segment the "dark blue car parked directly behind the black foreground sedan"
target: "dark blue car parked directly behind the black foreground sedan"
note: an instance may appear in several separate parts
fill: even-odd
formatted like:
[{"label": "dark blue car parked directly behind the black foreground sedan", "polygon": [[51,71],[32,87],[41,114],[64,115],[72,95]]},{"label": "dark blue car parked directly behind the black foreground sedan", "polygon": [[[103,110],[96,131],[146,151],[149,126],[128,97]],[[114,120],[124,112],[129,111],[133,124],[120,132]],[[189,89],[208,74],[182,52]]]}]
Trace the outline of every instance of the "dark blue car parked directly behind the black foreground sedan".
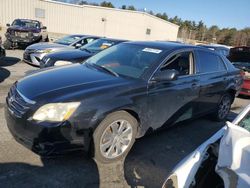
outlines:
[{"label": "dark blue car parked directly behind the black foreground sedan", "polygon": [[42,61],[40,62],[40,67],[45,68],[80,63],[95,55],[96,53],[124,41],[125,40],[120,39],[100,38],[79,48],[78,50],[68,48],[59,52],[50,53],[43,57]]}]

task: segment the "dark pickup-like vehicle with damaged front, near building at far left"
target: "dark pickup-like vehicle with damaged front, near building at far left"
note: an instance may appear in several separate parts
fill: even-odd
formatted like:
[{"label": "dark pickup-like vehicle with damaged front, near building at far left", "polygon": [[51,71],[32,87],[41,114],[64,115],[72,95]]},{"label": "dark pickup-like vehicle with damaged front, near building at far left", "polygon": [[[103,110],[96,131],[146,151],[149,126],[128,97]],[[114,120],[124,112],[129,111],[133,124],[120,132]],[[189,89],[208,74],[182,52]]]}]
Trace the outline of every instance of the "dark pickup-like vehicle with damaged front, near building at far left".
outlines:
[{"label": "dark pickup-like vehicle with damaged front, near building at far left", "polygon": [[37,20],[15,19],[11,25],[7,24],[7,27],[4,42],[6,49],[49,40],[47,27]]}]

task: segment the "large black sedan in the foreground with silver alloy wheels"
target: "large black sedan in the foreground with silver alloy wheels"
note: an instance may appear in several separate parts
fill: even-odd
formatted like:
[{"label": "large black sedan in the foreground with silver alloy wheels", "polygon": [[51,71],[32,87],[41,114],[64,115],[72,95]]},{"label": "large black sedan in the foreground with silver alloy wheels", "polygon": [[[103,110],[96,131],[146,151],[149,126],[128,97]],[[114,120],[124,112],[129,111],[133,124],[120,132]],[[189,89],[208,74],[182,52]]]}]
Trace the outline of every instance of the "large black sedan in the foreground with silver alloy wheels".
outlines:
[{"label": "large black sedan in the foreground with silver alloy wheels", "polygon": [[16,140],[40,155],[79,147],[112,162],[148,130],[205,114],[224,120],[241,84],[240,71],[211,50],[126,42],[18,81],[6,120]]}]

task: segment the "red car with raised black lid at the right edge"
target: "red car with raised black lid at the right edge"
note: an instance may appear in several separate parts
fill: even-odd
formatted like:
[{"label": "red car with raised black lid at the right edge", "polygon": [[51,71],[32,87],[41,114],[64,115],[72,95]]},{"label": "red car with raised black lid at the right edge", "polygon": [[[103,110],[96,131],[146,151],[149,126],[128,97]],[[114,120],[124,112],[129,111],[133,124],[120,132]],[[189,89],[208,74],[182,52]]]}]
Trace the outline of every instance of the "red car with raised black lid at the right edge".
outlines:
[{"label": "red car with raised black lid at the right edge", "polygon": [[242,70],[244,76],[240,94],[250,96],[250,47],[242,46],[231,48],[229,60],[235,67]]}]

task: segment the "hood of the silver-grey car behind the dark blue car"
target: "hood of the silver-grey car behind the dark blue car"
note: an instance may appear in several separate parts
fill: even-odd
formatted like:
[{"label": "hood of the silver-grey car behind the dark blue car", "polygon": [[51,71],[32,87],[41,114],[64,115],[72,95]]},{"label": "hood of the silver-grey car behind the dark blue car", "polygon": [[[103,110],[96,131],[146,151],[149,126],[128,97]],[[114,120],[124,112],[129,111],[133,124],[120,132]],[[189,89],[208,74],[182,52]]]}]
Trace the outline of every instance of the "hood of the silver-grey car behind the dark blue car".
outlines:
[{"label": "hood of the silver-grey car behind the dark blue car", "polygon": [[57,48],[72,49],[73,47],[62,45],[62,44],[57,44],[57,43],[41,42],[37,44],[32,44],[28,46],[26,49],[27,50],[45,50],[45,49],[57,49]]}]

